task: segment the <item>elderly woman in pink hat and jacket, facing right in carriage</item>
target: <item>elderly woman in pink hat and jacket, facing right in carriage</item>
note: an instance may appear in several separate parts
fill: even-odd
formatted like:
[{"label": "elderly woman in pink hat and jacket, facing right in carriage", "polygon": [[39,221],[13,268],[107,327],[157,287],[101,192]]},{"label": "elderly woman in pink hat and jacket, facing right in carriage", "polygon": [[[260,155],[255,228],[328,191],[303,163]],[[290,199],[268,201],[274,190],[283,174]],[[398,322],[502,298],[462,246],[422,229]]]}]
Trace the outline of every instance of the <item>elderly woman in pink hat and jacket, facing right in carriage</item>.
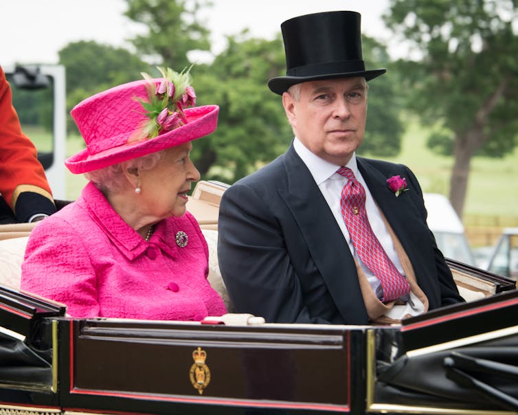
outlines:
[{"label": "elderly woman in pink hat and jacket, facing right in carriage", "polygon": [[[207,243],[185,210],[192,140],[218,106],[198,106],[188,71],[130,82],[72,111],[87,148],[65,164],[89,183],[27,243],[21,289],[73,317],[200,320],[225,305],[207,281]],[[146,74],[144,74],[146,75]]]}]

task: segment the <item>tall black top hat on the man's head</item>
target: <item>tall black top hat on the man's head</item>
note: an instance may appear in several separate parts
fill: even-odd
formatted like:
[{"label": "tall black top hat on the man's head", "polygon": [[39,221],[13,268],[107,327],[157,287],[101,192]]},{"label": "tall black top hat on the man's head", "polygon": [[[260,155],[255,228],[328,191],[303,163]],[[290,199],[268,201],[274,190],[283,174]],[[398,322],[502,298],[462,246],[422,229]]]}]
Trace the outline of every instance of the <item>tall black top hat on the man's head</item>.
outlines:
[{"label": "tall black top hat on the man's head", "polygon": [[268,81],[282,95],[291,85],[329,78],[363,76],[371,80],[386,69],[365,70],[361,54],[361,15],[323,12],[293,17],[280,25],[286,54],[286,76]]}]

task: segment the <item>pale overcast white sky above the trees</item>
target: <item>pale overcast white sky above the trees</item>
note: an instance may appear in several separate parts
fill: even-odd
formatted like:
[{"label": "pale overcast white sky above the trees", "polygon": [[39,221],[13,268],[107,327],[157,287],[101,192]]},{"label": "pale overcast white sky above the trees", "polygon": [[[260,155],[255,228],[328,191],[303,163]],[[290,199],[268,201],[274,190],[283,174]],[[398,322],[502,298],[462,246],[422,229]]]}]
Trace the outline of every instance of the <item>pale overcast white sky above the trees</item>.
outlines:
[{"label": "pale overcast white sky above the trees", "polygon": [[[362,31],[386,38],[381,21],[388,0],[213,0],[206,16],[213,51],[225,35],[249,28],[253,36],[272,38],[280,23],[301,14],[354,10],[362,15]],[[58,51],[70,42],[93,40],[129,46],[127,38],[142,27],[123,16],[124,0],[0,0],[0,65],[58,63]]]}]

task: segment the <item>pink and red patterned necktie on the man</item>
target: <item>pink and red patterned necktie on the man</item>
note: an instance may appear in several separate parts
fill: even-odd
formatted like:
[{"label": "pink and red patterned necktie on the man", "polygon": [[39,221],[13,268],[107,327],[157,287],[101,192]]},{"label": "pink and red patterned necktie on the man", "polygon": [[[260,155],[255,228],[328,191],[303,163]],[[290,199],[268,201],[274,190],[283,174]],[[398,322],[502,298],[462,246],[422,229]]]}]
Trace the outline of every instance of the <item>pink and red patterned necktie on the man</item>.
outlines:
[{"label": "pink and red patterned necktie on the man", "polygon": [[389,302],[407,295],[410,284],[394,266],[370,227],[365,210],[365,189],[350,168],[341,167],[337,173],[348,179],[341,191],[341,216],[344,217],[359,258],[381,282],[381,301]]}]

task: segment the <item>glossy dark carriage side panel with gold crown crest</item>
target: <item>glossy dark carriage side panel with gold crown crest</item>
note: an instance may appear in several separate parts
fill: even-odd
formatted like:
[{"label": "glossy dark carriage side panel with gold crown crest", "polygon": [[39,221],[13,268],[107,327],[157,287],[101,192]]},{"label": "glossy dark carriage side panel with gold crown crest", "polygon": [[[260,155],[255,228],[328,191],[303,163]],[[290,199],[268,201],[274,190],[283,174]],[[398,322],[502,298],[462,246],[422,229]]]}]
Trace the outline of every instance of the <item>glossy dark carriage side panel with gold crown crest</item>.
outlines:
[{"label": "glossy dark carriage side panel with gold crown crest", "polygon": [[222,414],[364,407],[354,389],[363,391],[363,328],[91,319],[75,321],[67,336],[63,407],[127,411],[131,402],[132,412],[156,414],[203,414],[207,405]]}]

